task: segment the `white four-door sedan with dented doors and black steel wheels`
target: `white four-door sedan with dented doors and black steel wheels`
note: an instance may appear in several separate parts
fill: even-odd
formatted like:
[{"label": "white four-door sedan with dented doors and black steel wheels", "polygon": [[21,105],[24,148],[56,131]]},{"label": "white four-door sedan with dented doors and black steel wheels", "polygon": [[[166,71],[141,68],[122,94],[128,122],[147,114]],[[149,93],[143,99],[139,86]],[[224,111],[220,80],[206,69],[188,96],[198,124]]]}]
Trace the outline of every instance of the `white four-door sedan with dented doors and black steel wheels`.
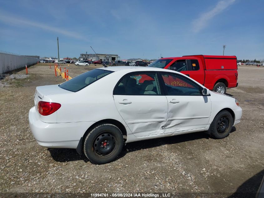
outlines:
[{"label": "white four-door sedan with dented doors and black steel wheels", "polygon": [[74,148],[95,164],[124,144],[205,131],[216,139],[240,122],[235,98],[176,71],[152,67],[93,69],[36,88],[29,125],[39,145]]}]

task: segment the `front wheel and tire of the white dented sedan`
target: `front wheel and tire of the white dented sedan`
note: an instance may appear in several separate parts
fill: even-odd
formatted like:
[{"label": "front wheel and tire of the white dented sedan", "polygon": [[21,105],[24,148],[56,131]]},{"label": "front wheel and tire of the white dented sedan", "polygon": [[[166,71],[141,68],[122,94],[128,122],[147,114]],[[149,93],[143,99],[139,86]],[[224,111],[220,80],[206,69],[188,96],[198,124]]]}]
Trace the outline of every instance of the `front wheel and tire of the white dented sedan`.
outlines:
[{"label": "front wheel and tire of the white dented sedan", "polygon": [[232,115],[228,111],[221,111],[213,119],[208,133],[215,139],[222,139],[230,134],[232,126]]}]

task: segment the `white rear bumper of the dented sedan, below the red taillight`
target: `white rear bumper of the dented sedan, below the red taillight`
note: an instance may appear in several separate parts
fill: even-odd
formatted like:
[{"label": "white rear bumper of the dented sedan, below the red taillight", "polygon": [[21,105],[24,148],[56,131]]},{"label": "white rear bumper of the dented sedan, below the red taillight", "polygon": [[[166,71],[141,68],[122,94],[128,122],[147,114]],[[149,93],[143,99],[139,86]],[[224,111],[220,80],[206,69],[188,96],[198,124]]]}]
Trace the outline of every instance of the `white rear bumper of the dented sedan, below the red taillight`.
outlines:
[{"label": "white rear bumper of the dented sedan, below the red taillight", "polygon": [[76,149],[86,130],[95,123],[93,121],[45,123],[39,119],[35,107],[29,110],[28,119],[30,129],[37,143],[48,148]]}]

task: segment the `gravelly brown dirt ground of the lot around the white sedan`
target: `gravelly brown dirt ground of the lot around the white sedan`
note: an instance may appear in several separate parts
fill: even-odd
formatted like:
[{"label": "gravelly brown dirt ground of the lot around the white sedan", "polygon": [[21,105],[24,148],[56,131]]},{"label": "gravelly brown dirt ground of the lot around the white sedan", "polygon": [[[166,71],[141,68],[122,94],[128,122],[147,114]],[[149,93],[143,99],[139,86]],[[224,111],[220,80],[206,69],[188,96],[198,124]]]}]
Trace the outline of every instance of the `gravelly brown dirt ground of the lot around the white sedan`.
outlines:
[{"label": "gravelly brown dirt ground of the lot around the white sedan", "polygon": [[[36,86],[64,82],[51,67],[40,63],[28,68],[28,78],[0,80],[1,196],[167,192],[189,197],[191,192],[255,197],[264,175],[264,67],[239,66],[238,87],[227,94],[238,99],[243,115],[227,138],[215,140],[201,132],[128,143],[117,160],[105,165],[90,163],[74,149],[48,150],[34,139],[28,112]],[[102,65],[67,69],[75,77],[97,67]],[[25,74],[25,69],[13,73]]]}]

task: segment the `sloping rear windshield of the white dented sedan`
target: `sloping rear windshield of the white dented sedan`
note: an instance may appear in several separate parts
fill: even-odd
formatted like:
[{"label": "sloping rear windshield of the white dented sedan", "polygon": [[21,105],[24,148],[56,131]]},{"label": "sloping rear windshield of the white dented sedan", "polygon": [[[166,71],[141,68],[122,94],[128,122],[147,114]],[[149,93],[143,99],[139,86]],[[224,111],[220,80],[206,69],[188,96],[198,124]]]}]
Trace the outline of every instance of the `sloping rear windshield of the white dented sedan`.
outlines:
[{"label": "sloping rear windshield of the white dented sedan", "polygon": [[113,71],[93,69],[60,84],[59,87],[68,91],[77,92],[111,73],[113,73]]}]

